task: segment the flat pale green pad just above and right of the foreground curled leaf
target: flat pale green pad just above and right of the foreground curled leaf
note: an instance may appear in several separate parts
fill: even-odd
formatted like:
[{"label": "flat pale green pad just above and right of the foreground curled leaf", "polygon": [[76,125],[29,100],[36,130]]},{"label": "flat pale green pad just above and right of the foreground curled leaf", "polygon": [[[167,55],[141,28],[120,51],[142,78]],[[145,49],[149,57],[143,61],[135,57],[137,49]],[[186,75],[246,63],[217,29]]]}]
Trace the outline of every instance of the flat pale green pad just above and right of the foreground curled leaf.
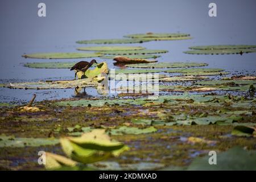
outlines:
[{"label": "flat pale green pad just above and right of the foreground curled leaf", "polygon": [[121,126],[118,129],[110,130],[110,134],[111,135],[123,135],[123,134],[139,135],[139,134],[154,133],[155,131],[157,130],[153,126],[147,127],[145,129],[139,129],[138,127]]}]

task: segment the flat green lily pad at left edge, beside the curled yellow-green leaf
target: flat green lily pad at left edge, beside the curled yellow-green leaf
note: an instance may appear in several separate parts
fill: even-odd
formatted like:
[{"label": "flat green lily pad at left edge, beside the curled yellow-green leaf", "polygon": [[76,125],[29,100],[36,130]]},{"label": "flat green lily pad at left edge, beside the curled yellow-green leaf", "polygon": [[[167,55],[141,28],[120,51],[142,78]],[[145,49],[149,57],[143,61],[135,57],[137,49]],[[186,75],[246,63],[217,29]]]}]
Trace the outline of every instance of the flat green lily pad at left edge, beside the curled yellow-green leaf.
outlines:
[{"label": "flat green lily pad at left edge, beside the curled yellow-green leaf", "polygon": [[58,143],[59,139],[54,138],[15,138],[0,135],[0,147],[39,147]]}]

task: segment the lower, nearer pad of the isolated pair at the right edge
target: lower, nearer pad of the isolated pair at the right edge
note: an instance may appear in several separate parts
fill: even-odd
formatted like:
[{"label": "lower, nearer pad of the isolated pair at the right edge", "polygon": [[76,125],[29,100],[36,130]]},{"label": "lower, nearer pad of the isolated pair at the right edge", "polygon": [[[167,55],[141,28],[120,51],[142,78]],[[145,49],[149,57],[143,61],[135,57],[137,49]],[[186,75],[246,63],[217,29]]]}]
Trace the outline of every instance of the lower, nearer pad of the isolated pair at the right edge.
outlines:
[{"label": "lower, nearer pad of the isolated pair at the right edge", "polygon": [[184,51],[184,53],[192,55],[229,55],[239,53],[256,52],[256,49],[214,49],[214,50],[193,50]]}]

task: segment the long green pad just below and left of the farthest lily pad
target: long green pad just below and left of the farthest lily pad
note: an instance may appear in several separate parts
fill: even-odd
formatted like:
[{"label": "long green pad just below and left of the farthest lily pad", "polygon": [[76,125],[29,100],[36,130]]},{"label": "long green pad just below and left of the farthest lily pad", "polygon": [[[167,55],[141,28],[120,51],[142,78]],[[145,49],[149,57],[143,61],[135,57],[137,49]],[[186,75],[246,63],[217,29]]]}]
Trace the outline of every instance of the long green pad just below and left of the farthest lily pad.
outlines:
[{"label": "long green pad just below and left of the farthest lily pad", "polygon": [[143,43],[150,40],[142,39],[94,39],[94,40],[79,40],[78,44],[131,44],[131,43]]}]

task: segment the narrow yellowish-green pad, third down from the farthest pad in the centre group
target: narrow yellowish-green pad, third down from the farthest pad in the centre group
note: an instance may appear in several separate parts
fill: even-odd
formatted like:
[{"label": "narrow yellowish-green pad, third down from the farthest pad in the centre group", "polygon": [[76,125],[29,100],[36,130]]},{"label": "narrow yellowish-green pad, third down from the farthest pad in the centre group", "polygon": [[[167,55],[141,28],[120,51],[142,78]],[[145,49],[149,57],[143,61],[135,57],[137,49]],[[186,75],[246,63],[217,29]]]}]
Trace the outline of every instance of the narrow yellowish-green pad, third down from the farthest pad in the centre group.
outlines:
[{"label": "narrow yellowish-green pad, third down from the farthest pad in the centre group", "polygon": [[130,51],[146,49],[140,46],[94,46],[94,47],[79,47],[79,51]]}]

